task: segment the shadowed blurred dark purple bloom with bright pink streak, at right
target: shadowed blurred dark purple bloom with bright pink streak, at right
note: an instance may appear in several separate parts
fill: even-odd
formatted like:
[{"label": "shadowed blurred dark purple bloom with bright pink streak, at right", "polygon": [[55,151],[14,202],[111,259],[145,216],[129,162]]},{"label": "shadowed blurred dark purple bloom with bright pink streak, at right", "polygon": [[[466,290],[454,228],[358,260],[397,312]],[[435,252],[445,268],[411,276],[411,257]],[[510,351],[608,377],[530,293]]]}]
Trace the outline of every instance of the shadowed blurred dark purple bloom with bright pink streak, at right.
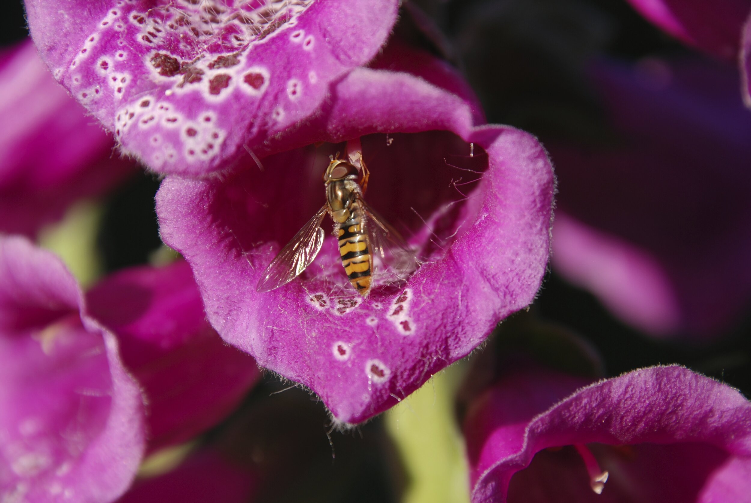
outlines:
[{"label": "shadowed blurred dark purple bloom with bright pink streak, at right", "polygon": [[751,298],[751,116],[710,62],[597,65],[607,141],[547,139],[553,269],[656,335],[728,328]]}]

